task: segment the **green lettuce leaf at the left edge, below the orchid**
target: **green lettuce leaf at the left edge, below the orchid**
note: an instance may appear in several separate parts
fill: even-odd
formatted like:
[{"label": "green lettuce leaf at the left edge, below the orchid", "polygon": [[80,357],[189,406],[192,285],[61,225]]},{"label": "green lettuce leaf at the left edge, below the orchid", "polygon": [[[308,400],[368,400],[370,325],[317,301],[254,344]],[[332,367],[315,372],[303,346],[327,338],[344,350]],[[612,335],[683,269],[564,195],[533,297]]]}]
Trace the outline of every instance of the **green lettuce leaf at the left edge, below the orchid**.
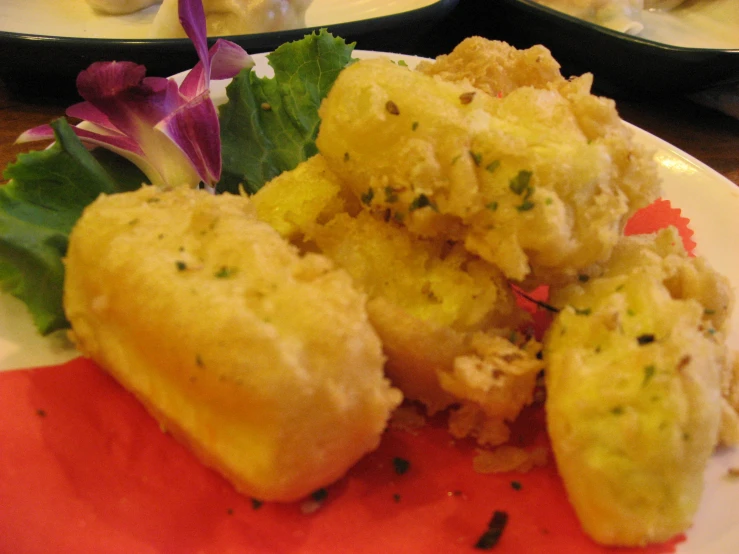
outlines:
[{"label": "green lettuce leaf at the left edge, below the orchid", "polygon": [[[23,301],[39,332],[68,326],[62,307],[69,233],[100,193],[141,186],[141,174],[119,160],[91,154],[64,119],[52,123],[56,142],[21,154],[0,186],[0,288]],[[115,169],[116,178],[107,168]]]}]

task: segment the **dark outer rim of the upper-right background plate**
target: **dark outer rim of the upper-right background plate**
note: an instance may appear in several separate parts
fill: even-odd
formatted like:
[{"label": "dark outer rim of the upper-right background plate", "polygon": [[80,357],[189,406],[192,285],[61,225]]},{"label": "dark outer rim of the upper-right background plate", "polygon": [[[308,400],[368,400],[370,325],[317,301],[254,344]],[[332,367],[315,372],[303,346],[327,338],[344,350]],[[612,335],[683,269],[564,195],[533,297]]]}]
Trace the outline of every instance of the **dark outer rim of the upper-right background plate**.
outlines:
[{"label": "dark outer rim of the upper-right background plate", "polygon": [[461,0],[453,19],[442,49],[471,34],[519,48],[543,44],[562,64],[564,74],[591,72],[596,91],[609,96],[678,95],[739,82],[739,49],[655,42],[599,27],[532,0]]}]

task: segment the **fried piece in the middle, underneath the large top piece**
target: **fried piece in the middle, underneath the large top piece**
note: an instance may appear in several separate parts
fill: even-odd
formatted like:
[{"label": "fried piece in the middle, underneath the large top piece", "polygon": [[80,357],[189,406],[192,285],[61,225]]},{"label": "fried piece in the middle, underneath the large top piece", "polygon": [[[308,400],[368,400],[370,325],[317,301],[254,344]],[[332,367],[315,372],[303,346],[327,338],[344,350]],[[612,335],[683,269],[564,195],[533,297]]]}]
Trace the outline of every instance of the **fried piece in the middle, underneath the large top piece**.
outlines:
[{"label": "fried piece in the middle, underneath the large top piece", "polygon": [[431,413],[466,403],[479,417],[454,425],[458,436],[507,440],[506,421],[531,402],[542,363],[535,341],[503,336],[524,314],[500,271],[460,244],[415,237],[361,210],[320,154],[267,183],[253,203],[261,218],[331,258],[368,294],[386,373],[406,398]]}]

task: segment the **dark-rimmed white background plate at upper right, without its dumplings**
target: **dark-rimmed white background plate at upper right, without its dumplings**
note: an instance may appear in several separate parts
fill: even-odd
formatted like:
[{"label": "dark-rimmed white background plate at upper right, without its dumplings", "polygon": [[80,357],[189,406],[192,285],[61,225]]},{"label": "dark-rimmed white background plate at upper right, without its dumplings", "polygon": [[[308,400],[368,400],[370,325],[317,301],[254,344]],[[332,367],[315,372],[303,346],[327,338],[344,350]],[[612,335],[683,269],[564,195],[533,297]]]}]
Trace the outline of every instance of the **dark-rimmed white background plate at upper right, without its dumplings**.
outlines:
[{"label": "dark-rimmed white background plate at upper right, without its dumplings", "polygon": [[519,47],[544,44],[565,74],[593,73],[599,94],[678,96],[739,82],[737,0],[687,0],[671,12],[646,12],[645,28],[637,35],[567,15],[537,0],[497,0],[496,6],[503,21],[515,21],[516,26],[491,24],[490,32],[482,29],[480,34]]}]

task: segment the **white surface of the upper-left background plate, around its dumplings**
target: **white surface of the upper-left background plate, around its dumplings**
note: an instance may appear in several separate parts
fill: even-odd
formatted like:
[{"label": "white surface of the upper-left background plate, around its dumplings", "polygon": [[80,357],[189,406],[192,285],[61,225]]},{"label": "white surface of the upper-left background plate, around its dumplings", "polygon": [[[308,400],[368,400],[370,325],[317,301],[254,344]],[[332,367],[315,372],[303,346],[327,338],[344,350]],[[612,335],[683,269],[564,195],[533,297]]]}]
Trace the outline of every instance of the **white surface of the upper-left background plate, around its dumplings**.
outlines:
[{"label": "white surface of the upper-left background plate, around its dumplings", "polygon": [[[313,0],[305,26],[322,27],[425,8],[436,0]],[[85,0],[3,0],[0,31],[52,37],[151,39],[159,5],[128,15],[98,14]]]}]

